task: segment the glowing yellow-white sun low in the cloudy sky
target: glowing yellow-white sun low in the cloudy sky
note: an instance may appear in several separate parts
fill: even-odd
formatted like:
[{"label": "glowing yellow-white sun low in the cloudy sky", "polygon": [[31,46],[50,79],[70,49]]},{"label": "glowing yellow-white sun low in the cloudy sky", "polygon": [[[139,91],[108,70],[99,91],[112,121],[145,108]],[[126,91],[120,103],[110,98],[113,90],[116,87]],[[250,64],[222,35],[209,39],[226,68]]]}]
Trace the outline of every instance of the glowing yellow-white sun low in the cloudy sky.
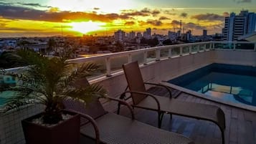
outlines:
[{"label": "glowing yellow-white sun low in the cloudy sky", "polygon": [[72,22],[70,23],[73,31],[80,32],[82,34],[87,34],[88,32],[94,32],[104,29],[105,23],[103,22],[93,22],[93,21],[82,21],[82,22]]}]

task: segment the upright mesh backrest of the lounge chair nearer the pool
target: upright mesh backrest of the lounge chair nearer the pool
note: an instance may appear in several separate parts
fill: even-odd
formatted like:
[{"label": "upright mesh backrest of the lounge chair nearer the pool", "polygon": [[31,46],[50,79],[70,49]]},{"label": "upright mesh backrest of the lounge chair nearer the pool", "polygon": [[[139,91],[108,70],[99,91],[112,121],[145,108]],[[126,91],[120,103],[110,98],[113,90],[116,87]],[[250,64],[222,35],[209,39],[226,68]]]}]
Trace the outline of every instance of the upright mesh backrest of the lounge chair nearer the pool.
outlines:
[{"label": "upright mesh backrest of the lounge chair nearer the pool", "polygon": [[[128,64],[123,64],[123,72],[125,73],[125,77],[128,83],[129,90],[138,91],[138,92],[146,92],[146,87],[143,82],[143,77],[141,75],[141,70],[138,67],[138,62],[131,62]],[[133,104],[136,105],[138,102],[141,102],[146,95],[140,95],[132,93],[131,97],[133,99]]]}]

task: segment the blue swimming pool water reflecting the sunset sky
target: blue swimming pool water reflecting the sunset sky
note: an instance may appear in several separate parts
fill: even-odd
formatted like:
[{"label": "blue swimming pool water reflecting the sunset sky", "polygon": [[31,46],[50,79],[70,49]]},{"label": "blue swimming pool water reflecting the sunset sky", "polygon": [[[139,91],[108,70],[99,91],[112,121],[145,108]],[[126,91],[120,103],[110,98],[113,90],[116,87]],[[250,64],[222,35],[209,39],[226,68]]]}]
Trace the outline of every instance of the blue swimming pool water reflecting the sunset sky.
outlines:
[{"label": "blue swimming pool water reflecting the sunset sky", "polygon": [[169,82],[206,97],[256,106],[256,67],[214,63]]}]

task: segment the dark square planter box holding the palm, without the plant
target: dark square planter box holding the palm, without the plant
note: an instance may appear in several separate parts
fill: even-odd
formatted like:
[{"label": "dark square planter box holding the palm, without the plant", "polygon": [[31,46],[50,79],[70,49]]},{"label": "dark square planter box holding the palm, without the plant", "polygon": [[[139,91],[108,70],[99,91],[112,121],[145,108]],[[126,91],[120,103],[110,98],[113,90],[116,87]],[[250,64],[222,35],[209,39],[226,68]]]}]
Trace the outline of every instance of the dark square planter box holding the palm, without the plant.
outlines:
[{"label": "dark square planter box holding the palm, without the plant", "polygon": [[32,123],[31,120],[40,117],[42,113],[22,120],[22,128],[27,144],[79,144],[80,143],[80,115],[73,112],[66,112],[73,115],[68,120],[45,127]]}]

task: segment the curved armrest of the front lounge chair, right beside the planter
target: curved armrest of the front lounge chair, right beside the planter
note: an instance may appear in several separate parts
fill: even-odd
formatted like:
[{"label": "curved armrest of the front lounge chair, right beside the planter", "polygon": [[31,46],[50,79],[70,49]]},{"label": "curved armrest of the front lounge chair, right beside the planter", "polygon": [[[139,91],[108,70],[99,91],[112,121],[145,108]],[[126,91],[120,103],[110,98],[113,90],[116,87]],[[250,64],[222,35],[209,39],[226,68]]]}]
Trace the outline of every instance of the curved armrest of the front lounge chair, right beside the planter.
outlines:
[{"label": "curved armrest of the front lounge chair, right beside the planter", "polygon": [[75,112],[75,113],[79,114],[80,117],[83,117],[83,118],[89,120],[89,122],[92,123],[93,128],[94,128],[94,130],[95,130],[95,143],[96,143],[96,144],[99,144],[99,143],[100,143],[100,132],[99,132],[99,128],[98,128],[98,126],[97,126],[96,121],[93,119],[93,117],[90,117],[90,115],[85,115],[85,114],[83,114],[82,112],[77,112],[77,111],[75,111],[75,110],[65,109],[65,111]]}]

